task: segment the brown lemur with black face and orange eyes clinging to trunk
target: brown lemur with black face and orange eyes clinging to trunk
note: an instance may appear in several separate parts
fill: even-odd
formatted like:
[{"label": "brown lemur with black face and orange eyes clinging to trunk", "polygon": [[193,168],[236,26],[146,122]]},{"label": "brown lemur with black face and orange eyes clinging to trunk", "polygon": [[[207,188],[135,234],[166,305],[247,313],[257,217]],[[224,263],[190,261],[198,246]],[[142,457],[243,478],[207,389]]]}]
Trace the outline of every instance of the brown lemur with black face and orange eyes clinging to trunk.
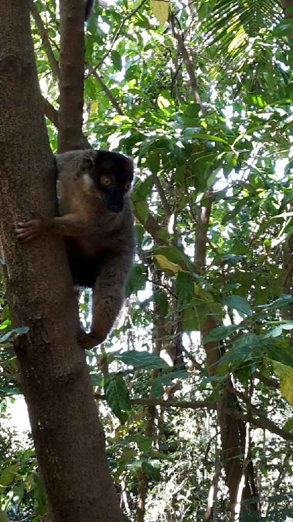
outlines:
[{"label": "brown lemur with black face and orange eyes clinging to trunk", "polygon": [[84,349],[103,342],[123,305],[135,234],[129,191],[133,162],[118,152],[76,150],[56,155],[59,216],[17,224],[21,241],[63,235],[74,285],[93,289],[92,325],[80,330]]}]

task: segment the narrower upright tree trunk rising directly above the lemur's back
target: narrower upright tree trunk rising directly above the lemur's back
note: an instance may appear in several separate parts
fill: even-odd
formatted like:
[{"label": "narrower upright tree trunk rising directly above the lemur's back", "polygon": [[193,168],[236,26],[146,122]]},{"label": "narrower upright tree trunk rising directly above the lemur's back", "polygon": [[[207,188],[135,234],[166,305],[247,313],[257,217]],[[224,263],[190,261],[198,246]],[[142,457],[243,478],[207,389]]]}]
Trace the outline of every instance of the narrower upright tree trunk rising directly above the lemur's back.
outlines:
[{"label": "narrower upright tree trunk rising directly above the lemur's back", "polygon": [[82,148],[84,2],[60,0],[58,152]]}]

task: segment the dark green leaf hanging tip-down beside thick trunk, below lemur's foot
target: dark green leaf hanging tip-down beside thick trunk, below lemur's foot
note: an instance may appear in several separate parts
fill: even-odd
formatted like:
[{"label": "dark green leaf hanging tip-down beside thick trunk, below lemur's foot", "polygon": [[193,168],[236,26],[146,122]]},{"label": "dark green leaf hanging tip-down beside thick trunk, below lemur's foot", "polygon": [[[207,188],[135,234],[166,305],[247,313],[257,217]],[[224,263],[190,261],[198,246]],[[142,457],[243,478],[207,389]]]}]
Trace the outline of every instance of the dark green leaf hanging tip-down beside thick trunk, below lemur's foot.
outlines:
[{"label": "dark green leaf hanging tip-down beside thick trunk, below lemur's foot", "polygon": [[131,405],[123,376],[119,373],[108,373],[104,380],[106,401],[116,417],[124,423],[127,419],[126,412],[131,409]]}]

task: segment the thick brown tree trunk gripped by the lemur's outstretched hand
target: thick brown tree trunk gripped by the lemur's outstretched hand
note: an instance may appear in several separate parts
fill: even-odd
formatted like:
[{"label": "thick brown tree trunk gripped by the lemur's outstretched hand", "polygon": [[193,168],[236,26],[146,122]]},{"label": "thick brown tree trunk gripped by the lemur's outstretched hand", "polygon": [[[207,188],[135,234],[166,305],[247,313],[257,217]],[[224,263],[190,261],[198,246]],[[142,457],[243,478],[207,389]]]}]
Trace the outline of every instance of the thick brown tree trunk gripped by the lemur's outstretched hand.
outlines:
[{"label": "thick brown tree trunk gripped by the lemur's outstretched hand", "polygon": [[54,159],[34,66],[29,0],[0,3],[2,257],[22,390],[52,522],[121,522],[62,240],[16,242],[30,210],[56,212]]}]

